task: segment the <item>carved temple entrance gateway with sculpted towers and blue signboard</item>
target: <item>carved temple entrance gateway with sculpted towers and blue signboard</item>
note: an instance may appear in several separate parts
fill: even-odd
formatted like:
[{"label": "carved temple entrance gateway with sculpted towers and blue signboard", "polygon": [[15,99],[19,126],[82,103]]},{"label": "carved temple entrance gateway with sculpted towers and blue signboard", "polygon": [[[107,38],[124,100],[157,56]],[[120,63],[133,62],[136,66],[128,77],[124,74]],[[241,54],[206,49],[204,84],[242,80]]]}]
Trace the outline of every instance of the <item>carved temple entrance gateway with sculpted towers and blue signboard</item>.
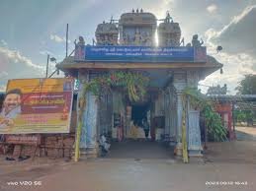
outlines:
[{"label": "carved temple entrance gateway with sculpted towers and blue signboard", "polygon": [[[157,26],[156,17],[143,11],[125,13],[120,20],[98,25],[96,44],[85,45],[80,36],[74,56],[56,65],[59,70],[78,79],[78,102],[86,102],[85,107],[78,104],[80,118],[77,124],[80,125],[76,131],[76,151],[80,151],[80,156],[97,157],[98,141],[103,133],[120,144],[130,136],[134,138],[132,128],[141,126],[144,117],[150,127],[150,140],[175,147],[169,153],[175,151],[181,156],[185,148],[191,157],[202,156],[200,111],[191,107],[189,101],[186,108],[183,107],[182,95],[186,88],[198,89],[200,80],[223,65],[207,55],[204,41],[200,41],[197,34],[185,45],[179,23],[169,14],[160,21],[162,23]],[[98,95],[92,92],[84,94],[86,84],[115,71],[138,73],[149,78],[146,100],[129,101],[126,93],[119,89]],[[115,78],[109,80],[113,83]],[[186,114],[185,126],[183,113]],[[144,132],[141,129],[142,137]],[[182,135],[186,135],[186,139],[182,139]],[[183,147],[185,145],[188,147]]]}]

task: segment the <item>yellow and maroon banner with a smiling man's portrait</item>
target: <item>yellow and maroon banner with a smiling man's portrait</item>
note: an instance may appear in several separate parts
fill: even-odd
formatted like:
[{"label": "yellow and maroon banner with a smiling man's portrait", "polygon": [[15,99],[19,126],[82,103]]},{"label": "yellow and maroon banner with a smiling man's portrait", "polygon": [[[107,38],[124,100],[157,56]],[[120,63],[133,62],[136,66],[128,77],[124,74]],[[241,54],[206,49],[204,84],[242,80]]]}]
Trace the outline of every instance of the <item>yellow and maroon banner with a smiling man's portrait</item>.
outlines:
[{"label": "yellow and maroon banner with a smiling man's portrait", "polygon": [[0,134],[68,133],[73,86],[70,78],[10,80]]}]

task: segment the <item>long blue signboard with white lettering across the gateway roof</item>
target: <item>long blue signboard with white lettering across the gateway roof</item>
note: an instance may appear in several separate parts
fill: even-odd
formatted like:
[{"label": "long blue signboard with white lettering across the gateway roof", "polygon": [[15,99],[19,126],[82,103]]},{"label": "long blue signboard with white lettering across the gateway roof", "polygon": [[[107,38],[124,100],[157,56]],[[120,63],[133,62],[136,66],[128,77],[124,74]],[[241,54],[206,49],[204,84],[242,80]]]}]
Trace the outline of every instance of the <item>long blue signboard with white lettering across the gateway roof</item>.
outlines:
[{"label": "long blue signboard with white lettering across the gateway roof", "polygon": [[[204,61],[197,58],[198,50],[194,47],[153,47],[153,46],[77,46],[75,59],[77,61],[106,62],[194,62]],[[206,55],[204,47],[203,54]]]}]

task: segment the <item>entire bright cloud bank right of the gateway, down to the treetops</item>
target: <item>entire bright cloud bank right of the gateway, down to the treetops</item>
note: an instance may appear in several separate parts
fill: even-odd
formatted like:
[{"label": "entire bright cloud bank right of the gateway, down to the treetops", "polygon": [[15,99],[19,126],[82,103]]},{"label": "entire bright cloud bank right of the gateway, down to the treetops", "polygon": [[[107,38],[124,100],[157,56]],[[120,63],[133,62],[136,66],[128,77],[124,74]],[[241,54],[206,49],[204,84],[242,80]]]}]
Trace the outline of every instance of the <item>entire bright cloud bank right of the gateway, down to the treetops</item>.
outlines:
[{"label": "entire bright cloud bank right of the gateway, down to the treetops", "polygon": [[[223,63],[223,74],[219,71],[206,78],[202,84],[216,86],[227,84],[228,94],[235,94],[235,87],[247,74],[256,74],[256,5],[247,7],[240,15],[233,17],[222,30],[208,30],[206,44],[209,54]],[[223,50],[216,53],[216,46]],[[203,87],[206,92],[207,88]]]}]

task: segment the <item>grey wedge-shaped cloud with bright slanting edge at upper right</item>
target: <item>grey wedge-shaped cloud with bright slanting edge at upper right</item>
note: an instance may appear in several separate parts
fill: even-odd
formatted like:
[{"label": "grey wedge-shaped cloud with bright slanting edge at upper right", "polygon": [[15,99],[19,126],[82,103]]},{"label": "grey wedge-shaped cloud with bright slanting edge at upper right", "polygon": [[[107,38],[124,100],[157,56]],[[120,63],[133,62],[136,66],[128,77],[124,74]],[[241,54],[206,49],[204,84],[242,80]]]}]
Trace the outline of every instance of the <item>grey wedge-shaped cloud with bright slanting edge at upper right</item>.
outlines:
[{"label": "grey wedge-shaped cloud with bright slanting edge at upper right", "polygon": [[247,7],[233,17],[220,31],[210,29],[206,32],[209,40],[223,46],[229,53],[244,52],[256,58],[256,5]]}]

